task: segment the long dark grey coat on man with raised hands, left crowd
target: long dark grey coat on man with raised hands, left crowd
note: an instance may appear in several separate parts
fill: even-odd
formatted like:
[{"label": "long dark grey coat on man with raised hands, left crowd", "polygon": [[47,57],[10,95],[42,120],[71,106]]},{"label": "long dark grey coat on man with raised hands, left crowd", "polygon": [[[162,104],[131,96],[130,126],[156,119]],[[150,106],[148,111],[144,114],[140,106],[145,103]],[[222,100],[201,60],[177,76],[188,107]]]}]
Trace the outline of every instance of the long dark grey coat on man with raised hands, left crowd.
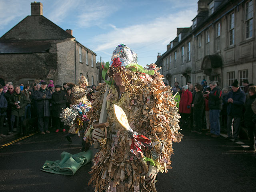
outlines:
[{"label": "long dark grey coat on man with raised hands, left crowd", "polygon": [[[43,99],[43,95],[46,94],[46,98]],[[50,117],[50,100],[52,99],[52,94],[50,90],[45,89],[33,92],[33,99],[36,106],[37,117]]]}]

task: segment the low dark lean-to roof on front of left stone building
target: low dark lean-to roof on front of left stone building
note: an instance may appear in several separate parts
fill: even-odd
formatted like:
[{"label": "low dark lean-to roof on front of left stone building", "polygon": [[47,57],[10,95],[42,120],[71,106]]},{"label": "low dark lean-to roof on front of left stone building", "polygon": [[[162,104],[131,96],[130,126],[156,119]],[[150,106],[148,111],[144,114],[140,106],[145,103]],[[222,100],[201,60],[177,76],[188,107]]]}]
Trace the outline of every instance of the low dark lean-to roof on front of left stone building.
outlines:
[{"label": "low dark lean-to roof on front of left stone building", "polygon": [[0,41],[0,54],[44,53],[52,46],[52,41]]}]

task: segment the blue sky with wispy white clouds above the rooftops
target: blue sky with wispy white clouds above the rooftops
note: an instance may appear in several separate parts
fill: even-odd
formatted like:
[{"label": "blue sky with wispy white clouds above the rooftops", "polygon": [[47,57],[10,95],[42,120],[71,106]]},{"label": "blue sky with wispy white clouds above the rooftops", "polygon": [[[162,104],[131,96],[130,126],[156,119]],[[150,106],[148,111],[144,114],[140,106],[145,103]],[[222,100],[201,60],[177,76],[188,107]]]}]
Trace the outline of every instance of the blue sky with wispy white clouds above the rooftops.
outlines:
[{"label": "blue sky with wispy white clouds above the rooftops", "polygon": [[[31,15],[31,0],[0,0],[0,36]],[[110,60],[120,43],[138,54],[138,64],[156,62],[157,54],[190,27],[198,0],[41,0],[43,15],[62,29],[72,29],[84,46]]]}]

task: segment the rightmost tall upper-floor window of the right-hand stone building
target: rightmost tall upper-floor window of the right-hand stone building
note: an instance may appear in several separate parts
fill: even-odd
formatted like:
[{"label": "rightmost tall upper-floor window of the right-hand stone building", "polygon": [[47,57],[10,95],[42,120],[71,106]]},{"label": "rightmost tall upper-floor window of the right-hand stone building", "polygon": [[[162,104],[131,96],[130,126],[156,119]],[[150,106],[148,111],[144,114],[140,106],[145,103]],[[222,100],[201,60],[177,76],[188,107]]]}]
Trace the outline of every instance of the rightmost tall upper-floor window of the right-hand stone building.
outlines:
[{"label": "rightmost tall upper-floor window of the right-hand stone building", "polygon": [[246,3],[246,11],[245,11],[246,38],[252,37],[252,22],[253,22],[253,1],[250,0]]}]

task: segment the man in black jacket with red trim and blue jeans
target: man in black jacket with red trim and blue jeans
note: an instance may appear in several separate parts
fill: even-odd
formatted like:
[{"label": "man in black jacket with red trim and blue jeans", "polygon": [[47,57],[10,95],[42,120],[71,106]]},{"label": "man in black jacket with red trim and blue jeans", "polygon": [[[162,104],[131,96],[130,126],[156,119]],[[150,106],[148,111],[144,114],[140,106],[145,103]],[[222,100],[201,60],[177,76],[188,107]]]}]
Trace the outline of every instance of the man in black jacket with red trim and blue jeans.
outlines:
[{"label": "man in black jacket with red trim and blue jeans", "polygon": [[210,109],[210,133],[208,136],[217,138],[220,136],[220,110],[222,110],[222,91],[217,87],[215,81],[210,82],[210,94],[208,106]]}]

